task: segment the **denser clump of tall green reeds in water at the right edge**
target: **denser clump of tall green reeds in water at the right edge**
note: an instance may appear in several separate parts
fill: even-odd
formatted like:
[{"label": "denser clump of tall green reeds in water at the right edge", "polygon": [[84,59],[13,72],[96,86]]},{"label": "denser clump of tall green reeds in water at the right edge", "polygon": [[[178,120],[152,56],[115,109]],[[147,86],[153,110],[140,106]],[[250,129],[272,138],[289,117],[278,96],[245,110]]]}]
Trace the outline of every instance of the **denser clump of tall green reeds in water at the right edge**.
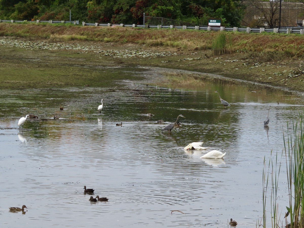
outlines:
[{"label": "denser clump of tall green reeds in water at the right edge", "polygon": [[293,123],[293,132],[285,142],[289,192],[290,227],[304,227],[304,122]]}]

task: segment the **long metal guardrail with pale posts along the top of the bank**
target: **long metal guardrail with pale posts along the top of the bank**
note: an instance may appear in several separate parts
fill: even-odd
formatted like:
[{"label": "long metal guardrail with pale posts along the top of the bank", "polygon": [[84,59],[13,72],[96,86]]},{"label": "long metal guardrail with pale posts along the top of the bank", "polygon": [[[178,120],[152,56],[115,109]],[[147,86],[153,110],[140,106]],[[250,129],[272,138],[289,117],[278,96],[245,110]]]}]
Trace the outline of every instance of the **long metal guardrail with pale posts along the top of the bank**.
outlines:
[{"label": "long metal guardrail with pale posts along the top of the bank", "polygon": [[[21,20],[1,20],[0,22],[36,22],[36,23],[71,23],[74,25],[79,25],[79,21],[21,21]],[[206,31],[230,31],[230,32],[246,32],[246,33],[295,33],[295,34],[304,34],[304,27],[284,27],[284,28],[239,28],[239,27],[223,27],[223,26],[174,26],[174,25],[137,25],[137,24],[111,24],[111,23],[87,23],[82,22],[82,26],[122,26],[122,27],[139,27],[139,28],[165,28],[165,29],[195,29],[195,30],[206,30]]]}]

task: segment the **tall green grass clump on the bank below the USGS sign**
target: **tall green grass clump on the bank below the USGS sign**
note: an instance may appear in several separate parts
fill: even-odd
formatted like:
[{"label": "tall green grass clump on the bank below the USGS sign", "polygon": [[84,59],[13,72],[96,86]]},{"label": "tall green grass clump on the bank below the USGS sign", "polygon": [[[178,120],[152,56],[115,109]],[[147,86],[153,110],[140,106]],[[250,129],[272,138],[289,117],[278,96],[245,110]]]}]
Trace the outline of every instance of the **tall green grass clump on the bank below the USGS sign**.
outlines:
[{"label": "tall green grass clump on the bank below the USGS sign", "polygon": [[232,53],[232,35],[226,32],[220,32],[212,42],[212,50],[214,55]]}]

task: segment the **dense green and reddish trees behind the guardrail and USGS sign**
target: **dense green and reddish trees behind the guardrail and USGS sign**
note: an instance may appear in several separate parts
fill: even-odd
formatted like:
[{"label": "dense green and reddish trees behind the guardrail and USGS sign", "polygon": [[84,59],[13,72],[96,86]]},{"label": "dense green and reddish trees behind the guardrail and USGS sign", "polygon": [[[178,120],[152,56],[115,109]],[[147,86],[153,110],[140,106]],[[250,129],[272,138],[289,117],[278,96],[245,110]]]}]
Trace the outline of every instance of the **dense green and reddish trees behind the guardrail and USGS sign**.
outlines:
[{"label": "dense green and reddish trees behind the guardrail and USGS sign", "polygon": [[0,0],[0,19],[71,20],[143,24],[145,16],[207,25],[240,26],[246,5],[241,0]]}]

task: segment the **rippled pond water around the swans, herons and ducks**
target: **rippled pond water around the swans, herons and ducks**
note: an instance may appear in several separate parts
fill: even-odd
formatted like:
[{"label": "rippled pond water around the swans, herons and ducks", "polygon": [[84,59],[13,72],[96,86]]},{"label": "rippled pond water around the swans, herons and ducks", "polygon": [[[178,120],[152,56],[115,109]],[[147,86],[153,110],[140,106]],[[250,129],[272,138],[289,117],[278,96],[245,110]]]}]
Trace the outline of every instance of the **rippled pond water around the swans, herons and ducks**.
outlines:
[{"label": "rippled pond water around the swans, herons and ducks", "polygon": [[[159,88],[147,86],[161,77],[159,69],[119,70],[145,80],[130,77],[116,88],[1,90],[2,227],[224,227],[230,218],[255,227],[263,215],[264,157],[268,164],[281,154],[287,121],[299,119],[302,98],[220,81]],[[223,107],[216,90],[231,107]],[[39,118],[27,119],[19,131],[18,119],[28,113]],[[179,114],[185,116],[181,126],[162,132]],[[183,150],[197,141],[210,148]],[[226,155],[200,158],[210,150]],[[288,206],[284,161],[282,218]],[[91,203],[84,185],[109,201]],[[22,205],[26,213],[9,212]]]}]

